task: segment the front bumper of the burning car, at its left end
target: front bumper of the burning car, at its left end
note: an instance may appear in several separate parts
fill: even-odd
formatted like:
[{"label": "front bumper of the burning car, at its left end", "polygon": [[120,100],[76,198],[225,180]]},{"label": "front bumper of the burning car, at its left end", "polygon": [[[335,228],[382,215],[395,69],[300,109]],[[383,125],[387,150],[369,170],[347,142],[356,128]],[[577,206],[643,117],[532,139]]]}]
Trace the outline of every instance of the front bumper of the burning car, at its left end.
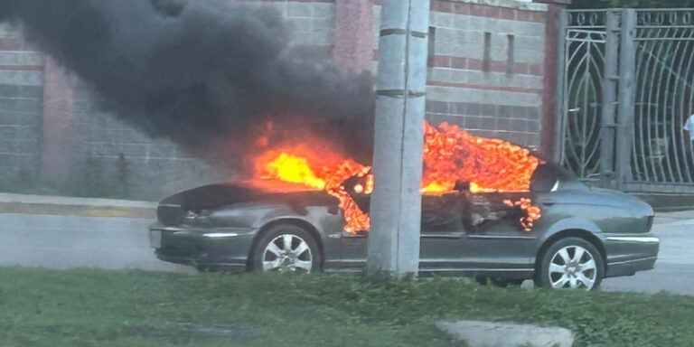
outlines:
[{"label": "front bumper of the burning car, at its left end", "polygon": [[258,230],[246,228],[149,227],[156,258],[198,268],[244,271]]}]

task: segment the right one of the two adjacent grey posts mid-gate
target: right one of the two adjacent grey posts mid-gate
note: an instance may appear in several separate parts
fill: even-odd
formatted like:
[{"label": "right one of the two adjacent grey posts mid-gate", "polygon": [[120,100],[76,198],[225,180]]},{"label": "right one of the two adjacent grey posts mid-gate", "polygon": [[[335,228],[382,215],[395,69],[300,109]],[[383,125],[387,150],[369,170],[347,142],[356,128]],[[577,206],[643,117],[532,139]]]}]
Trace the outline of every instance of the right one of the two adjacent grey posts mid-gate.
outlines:
[{"label": "right one of the two adjacent grey posts mid-gate", "polygon": [[636,10],[622,11],[622,32],[619,47],[619,112],[616,138],[617,189],[624,190],[627,181],[633,179],[632,147],[634,127],[634,95],[633,83],[636,70]]}]

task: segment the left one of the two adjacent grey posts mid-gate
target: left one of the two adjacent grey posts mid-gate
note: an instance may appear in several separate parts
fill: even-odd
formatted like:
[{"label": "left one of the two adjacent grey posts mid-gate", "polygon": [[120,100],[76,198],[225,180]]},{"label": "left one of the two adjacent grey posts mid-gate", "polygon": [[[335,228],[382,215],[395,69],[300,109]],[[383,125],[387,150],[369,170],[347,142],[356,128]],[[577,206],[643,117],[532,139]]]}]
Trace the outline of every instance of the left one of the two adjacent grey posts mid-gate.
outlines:
[{"label": "left one of the two adjacent grey posts mid-gate", "polygon": [[600,128],[600,185],[616,188],[614,180],[614,137],[617,104],[617,47],[619,45],[620,13],[608,11],[605,33],[605,75],[603,77],[603,109]]}]

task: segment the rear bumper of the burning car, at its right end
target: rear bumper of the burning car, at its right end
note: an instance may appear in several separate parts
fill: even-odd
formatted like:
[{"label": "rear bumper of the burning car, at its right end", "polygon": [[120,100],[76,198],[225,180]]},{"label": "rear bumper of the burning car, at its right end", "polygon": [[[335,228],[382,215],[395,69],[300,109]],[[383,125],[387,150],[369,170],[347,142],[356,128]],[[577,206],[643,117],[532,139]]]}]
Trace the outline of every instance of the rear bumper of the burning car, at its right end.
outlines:
[{"label": "rear bumper of the burning car, at its right end", "polygon": [[605,277],[618,277],[655,267],[661,240],[652,233],[607,234],[603,242],[607,254]]}]

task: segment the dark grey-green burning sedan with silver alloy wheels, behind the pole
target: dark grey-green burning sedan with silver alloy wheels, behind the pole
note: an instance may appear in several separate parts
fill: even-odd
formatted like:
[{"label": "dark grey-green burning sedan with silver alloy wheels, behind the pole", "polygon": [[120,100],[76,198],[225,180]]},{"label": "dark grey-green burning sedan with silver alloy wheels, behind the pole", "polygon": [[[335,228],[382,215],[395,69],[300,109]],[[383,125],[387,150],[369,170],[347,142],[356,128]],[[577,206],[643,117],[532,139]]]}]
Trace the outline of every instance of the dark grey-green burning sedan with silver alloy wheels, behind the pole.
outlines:
[{"label": "dark grey-green burning sedan with silver alloy wheels, behind the pole", "polygon": [[[369,195],[344,187],[363,211]],[[419,269],[496,284],[594,289],[604,277],[652,269],[659,239],[650,205],[590,188],[542,164],[530,192],[455,192],[422,197]],[[531,228],[520,220],[530,199]],[[368,231],[343,230],[343,211],[323,191],[272,192],[220,183],[164,199],[150,227],[158,258],[224,271],[361,271]]]}]

